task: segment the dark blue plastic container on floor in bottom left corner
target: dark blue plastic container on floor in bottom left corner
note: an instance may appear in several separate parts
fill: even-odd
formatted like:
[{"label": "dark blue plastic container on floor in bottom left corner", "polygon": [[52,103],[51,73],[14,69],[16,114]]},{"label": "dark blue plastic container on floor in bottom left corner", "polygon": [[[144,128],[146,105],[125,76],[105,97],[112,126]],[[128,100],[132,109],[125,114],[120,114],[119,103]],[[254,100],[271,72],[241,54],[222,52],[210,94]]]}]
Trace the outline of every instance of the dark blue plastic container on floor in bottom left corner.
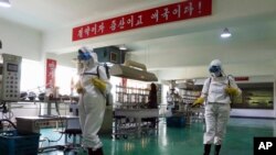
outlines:
[{"label": "dark blue plastic container on floor in bottom left corner", "polygon": [[39,133],[0,132],[0,155],[38,155]]}]

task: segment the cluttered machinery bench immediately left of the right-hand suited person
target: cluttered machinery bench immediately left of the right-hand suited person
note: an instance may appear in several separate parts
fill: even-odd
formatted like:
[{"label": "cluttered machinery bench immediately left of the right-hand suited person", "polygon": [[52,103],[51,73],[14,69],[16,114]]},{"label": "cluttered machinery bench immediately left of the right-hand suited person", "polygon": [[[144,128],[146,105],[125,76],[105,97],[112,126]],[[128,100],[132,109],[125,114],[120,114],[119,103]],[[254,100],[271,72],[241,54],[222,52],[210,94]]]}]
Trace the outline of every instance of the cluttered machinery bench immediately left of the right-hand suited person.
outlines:
[{"label": "cluttered machinery bench immediately left of the right-hand suited person", "polygon": [[[200,97],[200,95],[201,88],[200,86],[194,85],[194,80],[171,80],[170,89],[167,92],[167,102],[172,117],[171,119],[167,119],[167,125],[184,126],[192,122],[203,121],[204,107],[192,107],[193,102]],[[170,120],[173,120],[178,124],[170,123]]]}]

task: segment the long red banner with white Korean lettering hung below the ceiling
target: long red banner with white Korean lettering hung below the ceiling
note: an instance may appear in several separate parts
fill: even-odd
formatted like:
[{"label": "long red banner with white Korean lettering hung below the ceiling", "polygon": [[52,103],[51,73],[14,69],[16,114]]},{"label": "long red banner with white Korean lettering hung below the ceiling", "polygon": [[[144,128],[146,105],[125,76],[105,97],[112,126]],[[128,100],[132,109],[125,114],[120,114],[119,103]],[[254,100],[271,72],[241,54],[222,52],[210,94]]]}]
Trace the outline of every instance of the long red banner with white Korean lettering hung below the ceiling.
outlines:
[{"label": "long red banner with white Korean lettering hung below the ceiling", "polygon": [[144,26],[205,16],[211,13],[212,0],[187,0],[74,27],[72,40],[78,41]]}]

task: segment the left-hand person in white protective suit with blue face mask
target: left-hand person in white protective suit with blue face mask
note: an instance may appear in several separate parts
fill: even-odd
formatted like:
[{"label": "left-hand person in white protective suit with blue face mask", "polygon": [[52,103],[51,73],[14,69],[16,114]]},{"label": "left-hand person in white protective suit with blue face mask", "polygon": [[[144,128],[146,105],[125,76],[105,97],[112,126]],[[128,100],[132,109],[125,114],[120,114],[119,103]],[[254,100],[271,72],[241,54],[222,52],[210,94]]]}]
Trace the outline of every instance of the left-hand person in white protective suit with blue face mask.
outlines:
[{"label": "left-hand person in white protective suit with blue face mask", "polygon": [[76,90],[79,95],[78,111],[83,132],[82,145],[89,155],[103,155],[103,144],[97,135],[104,120],[106,99],[110,91],[105,68],[99,66],[96,53],[82,47],[78,49],[77,73],[79,80]]}]

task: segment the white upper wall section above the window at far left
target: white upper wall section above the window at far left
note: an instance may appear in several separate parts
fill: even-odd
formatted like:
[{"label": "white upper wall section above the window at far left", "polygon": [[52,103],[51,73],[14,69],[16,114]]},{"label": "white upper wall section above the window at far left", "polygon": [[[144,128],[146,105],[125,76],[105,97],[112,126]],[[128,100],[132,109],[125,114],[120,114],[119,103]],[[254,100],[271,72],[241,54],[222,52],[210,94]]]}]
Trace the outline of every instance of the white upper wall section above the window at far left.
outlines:
[{"label": "white upper wall section above the window at far left", "polygon": [[0,19],[0,40],[2,41],[0,53],[41,60],[42,33],[40,31]]}]

